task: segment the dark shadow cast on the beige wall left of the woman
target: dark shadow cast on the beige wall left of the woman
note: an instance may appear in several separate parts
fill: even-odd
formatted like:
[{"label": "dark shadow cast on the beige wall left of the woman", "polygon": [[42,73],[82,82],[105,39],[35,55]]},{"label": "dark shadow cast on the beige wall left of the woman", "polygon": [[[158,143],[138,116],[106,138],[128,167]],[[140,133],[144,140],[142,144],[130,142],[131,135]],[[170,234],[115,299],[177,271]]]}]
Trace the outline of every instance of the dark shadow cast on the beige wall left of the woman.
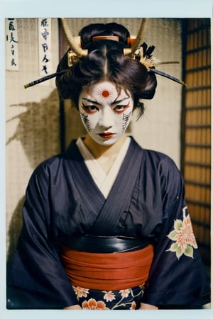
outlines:
[{"label": "dark shadow cast on the beige wall left of the woman", "polygon": [[[53,90],[50,95],[39,103],[23,103],[16,106],[24,106],[26,111],[14,116],[6,125],[10,125],[14,119],[19,120],[15,133],[8,137],[6,145],[13,140],[21,142],[32,169],[46,159],[60,152],[60,124],[59,124],[59,100],[58,91]],[[9,130],[8,130],[9,131]],[[16,157],[16,160],[18,155]],[[15,161],[13,162],[15,165]],[[9,225],[9,250],[8,262],[16,249],[16,243],[22,227],[22,206],[25,197],[18,201]]]}]

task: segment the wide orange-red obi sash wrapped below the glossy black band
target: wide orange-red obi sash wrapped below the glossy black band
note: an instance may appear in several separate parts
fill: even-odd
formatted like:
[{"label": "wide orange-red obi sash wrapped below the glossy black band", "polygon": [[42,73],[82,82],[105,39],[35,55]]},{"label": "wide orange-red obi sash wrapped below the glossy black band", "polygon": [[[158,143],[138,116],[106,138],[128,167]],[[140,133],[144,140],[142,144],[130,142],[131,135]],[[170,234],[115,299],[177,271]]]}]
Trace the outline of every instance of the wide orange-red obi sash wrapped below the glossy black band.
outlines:
[{"label": "wide orange-red obi sash wrapped below the glossy black band", "polygon": [[61,259],[74,286],[107,291],[129,289],[147,281],[153,261],[153,245],[131,252],[104,254],[62,246]]}]

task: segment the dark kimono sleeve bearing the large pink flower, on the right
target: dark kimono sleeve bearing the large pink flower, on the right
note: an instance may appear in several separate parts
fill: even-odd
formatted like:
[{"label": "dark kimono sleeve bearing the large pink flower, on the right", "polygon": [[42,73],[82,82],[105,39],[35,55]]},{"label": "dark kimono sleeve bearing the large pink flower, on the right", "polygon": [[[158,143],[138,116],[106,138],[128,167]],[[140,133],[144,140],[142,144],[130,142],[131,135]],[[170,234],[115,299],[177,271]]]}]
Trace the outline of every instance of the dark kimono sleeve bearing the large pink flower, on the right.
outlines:
[{"label": "dark kimono sleeve bearing the large pink flower, on the right", "polygon": [[200,308],[209,303],[209,278],[192,230],[182,176],[171,159],[161,163],[160,181],[163,221],[142,302],[159,308]]}]

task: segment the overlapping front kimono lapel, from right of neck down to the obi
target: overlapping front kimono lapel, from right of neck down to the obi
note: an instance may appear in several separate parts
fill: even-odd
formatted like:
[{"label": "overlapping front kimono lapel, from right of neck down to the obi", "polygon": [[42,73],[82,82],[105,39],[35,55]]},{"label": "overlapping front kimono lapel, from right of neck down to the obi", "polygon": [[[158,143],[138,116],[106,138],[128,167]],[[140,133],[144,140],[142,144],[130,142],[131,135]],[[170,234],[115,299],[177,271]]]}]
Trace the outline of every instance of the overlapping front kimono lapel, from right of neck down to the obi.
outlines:
[{"label": "overlapping front kimono lapel, from right of neck down to the obi", "polygon": [[129,208],[138,171],[141,167],[142,153],[141,147],[131,139],[129,150],[114,186],[90,230],[91,235],[103,236],[115,233],[121,214]]}]

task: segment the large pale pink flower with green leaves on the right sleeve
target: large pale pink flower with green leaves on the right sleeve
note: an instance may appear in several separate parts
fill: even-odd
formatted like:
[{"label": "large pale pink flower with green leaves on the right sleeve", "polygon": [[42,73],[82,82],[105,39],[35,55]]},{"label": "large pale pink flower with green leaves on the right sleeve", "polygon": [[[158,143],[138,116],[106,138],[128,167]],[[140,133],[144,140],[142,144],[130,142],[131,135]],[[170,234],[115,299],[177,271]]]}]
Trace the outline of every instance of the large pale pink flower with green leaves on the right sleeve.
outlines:
[{"label": "large pale pink flower with green leaves on the right sleeve", "polygon": [[174,230],[168,234],[170,240],[175,241],[167,250],[170,252],[176,252],[178,259],[185,254],[187,257],[193,258],[193,248],[197,248],[197,242],[195,240],[195,235],[192,230],[192,223],[190,216],[185,216],[187,207],[182,209],[183,219],[177,219],[174,223]]}]

